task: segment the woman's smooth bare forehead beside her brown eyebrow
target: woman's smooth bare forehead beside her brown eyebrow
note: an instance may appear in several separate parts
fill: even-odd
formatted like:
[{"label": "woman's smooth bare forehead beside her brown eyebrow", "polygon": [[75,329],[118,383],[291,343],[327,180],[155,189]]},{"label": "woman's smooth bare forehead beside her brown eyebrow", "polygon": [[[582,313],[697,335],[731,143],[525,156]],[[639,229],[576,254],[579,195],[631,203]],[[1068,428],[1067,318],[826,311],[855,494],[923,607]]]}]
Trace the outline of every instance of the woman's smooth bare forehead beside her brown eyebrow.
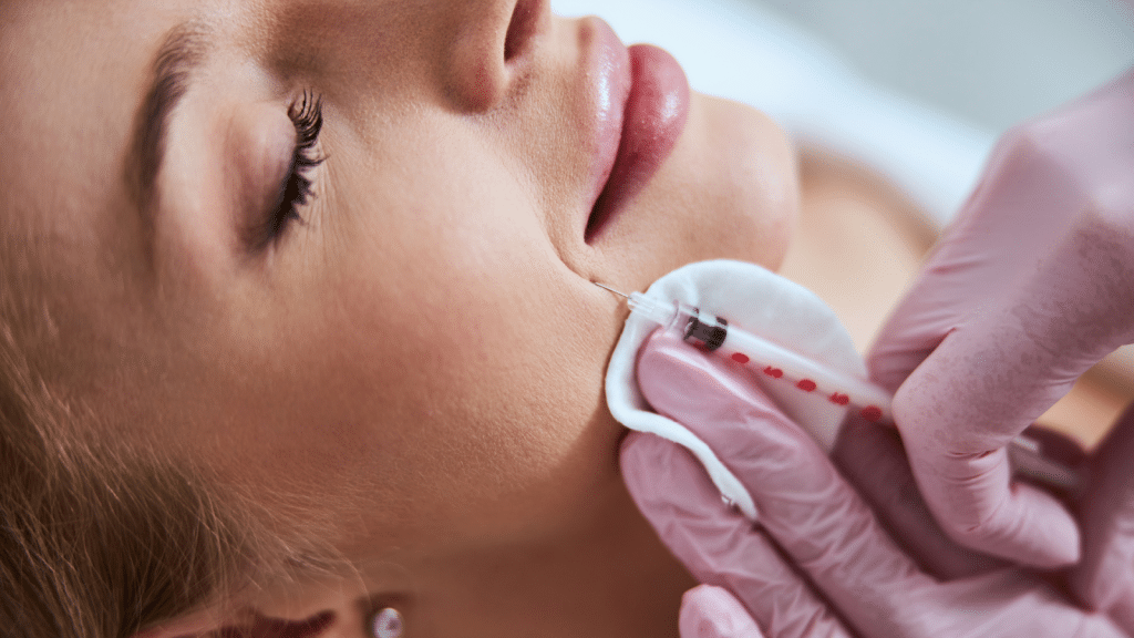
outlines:
[{"label": "woman's smooth bare forehead beside her brown eyebrow", "polygon": [[153,54],[185,5],[0,2],[0,294],[88,322],[129,288],[138,216],[127,141]]}]

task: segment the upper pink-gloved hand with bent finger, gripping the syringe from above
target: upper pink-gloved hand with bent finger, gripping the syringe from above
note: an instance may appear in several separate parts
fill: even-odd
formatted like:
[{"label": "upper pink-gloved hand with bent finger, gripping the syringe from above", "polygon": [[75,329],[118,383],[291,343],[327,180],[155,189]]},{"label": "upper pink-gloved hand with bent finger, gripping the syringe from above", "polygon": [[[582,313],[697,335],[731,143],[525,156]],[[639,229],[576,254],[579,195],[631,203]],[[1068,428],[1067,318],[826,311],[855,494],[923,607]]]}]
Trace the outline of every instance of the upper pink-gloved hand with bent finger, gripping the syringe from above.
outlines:
[{"label": "upper pink-gloved hand with bent finger, gripping the syringe from above", "polygon": [[1005,446],[1134,342],[1134,72],[1009,132],[869,360],[958,543],[1041,568],[1080,534]]}]

